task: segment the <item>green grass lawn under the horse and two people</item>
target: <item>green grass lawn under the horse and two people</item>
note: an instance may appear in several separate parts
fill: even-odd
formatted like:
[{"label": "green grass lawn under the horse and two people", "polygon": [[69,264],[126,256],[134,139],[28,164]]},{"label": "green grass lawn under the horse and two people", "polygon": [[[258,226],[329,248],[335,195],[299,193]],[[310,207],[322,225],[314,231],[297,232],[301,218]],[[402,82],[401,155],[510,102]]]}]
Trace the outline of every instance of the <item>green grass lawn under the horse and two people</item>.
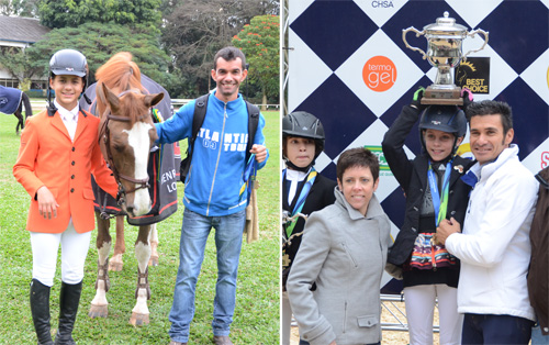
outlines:
[{"label": "green grass lawn under the horse and two people", "polygon": [[[265,135],[270,158],[259,171],[258,190],[260,238],[243,244],[237,288],[237,305],[232,325],[235,344],[279,344],[279,253],[280,253],[280,125],[279,112],[264,112]],[[32,279],[32,252],[25,231],[30,196],[12,175],[20,138],[16,120],[0,113],[0,344],[36,344],[29,307],[29,283]],[[184,152],[181,149],[181,152]],[[178,187],[182,187],[178,183]],[[182,192],[179,193],[181,200]],[[74,337],[78,344],[168,344],[168,330],[173,286],[178,268],[182,203],[177,213],[158,224],[159,266],[149,268],[152,298],[148,302],[150,324],[134,327],[128,323],[135,303],[137,264],[133,244],[137,227],[126,224],[124,269],[111,272],[108,292],[109,318],[89,319],[94,296],[97,251],[94,235],[86,263],[80,309]],[[111,226],[113,227],[113,225]],[[213,233],[213,231],[212,231]],[[213,235],[211,235],[213,237]],[[216,263],[214,238],[209,238],[202,272],[197,286],[195,315],[189,344],[212,344],[211,330],[215,294]],[[59,255],[60,257],[60,255]],[[60,259],[52,288],[52,332],[57,327]]]}]

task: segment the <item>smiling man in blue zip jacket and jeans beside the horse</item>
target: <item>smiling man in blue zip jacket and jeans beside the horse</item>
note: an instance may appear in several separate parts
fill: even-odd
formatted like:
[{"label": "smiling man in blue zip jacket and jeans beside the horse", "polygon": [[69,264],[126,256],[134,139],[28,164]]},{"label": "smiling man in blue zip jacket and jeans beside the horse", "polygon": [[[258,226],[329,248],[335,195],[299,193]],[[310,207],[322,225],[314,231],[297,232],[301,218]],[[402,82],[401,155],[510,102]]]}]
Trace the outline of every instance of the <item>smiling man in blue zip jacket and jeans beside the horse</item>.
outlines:
[{"label": "smiling man in blue zip jacket and jeans beside the horse", "polygon": [[[233,344],[228,337],[236,302],[236,277],[246,222],[250,164],[260,169],[268,158],[259,116],[255,137],[248,138],[246,102],[238,89],[246,79],[244,54],[222,48],[214,57],[212,79],[215,91],[209,97],[206,115],[194,142],[192,160],[184,180],[184,212],[179,249],[179,269],[169,314],[170,345],[187,344],[194,315],[194,292],[204,248],[212,227],[217,249],[217,282],[213,311],[216,345]],[[192,136],[195,101],[182,107],[171,119],[157,123],[158,142],[173,143]],[[245,162],[248,141],[254,141],[251,162]],[[255,162],[254,162],[255,159]]]}]

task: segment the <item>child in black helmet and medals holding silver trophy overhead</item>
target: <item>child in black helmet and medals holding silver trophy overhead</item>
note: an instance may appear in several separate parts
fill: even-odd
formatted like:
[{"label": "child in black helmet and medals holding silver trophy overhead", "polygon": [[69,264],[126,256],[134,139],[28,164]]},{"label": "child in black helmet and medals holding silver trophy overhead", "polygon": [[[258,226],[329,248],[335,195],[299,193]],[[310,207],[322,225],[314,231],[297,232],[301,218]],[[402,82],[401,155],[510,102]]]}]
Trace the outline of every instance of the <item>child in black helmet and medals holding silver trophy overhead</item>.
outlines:
[{"label": "child in black helmet and medals holding silver trophy overhead", "polygon": [[[412,104],[403,108],[382,142],[389,167],[406,197],[404,224],[389,254],[388,267],[404,282],[410,344],[433,344],[436,299],[440,344],[459,344],[459,260],[433,235],[442,219],[453,216],[463,223],[470,187],[460,177],[472,162],[456,152],[466,135],[467,119],[456,105],[425,108],[422,96],[423,88],[416,91]],[[404,141],[418,120],[424,152],[408,159]]]}]

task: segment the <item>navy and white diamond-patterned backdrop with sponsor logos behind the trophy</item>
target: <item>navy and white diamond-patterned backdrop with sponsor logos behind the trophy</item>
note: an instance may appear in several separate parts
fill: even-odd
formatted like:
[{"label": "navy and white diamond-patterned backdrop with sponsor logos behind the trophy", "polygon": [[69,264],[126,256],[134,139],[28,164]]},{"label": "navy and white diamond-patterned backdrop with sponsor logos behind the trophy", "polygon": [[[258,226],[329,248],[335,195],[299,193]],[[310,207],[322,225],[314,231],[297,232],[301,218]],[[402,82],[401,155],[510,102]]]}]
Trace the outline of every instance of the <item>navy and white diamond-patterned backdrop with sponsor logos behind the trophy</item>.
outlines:
[{"label": "navy and white diamond-patterned backdrop with sponsor logos behind the trophy", "polygon": [[[523,164],[537,172],[549,165],[549,0],[289,0],[288,109],[322,120],[326,148],[316,168],[327,177],[335,179],[337,158],[347,148],[369,146],[379,154],[377,196],[393,237],[403,222],[404,197],[383,159],[381,140],[413,92],[436,76],[422,54],[405,47],[402,30],[422,31],[445,11],[468,31],[490,33],[485,48],[470,55],[490,60],[486,78],[471,85],[489,93],[474,99],[512,105],[514,143]],[[424,36],[406,38],[426,51]],[[463,53],[483,43],[480,35],[467,37]],[[421,152],[414,131],[405,143],[411,158]],[[389,280],[385,275],[382,286]]]}]

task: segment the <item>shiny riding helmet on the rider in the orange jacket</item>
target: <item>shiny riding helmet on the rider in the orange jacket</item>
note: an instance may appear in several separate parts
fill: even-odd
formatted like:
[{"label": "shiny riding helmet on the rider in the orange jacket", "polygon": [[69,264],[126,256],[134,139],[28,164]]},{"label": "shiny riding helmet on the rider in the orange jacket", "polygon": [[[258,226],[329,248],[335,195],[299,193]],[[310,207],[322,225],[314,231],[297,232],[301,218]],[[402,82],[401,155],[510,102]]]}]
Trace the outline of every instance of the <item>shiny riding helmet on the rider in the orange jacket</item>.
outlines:
[{"label": "shiny riding helmet on the rider in the orange jacket", "polygon": [[[54,78],[57,75],[69,75],[78,76],[83,79],[83,91],[88,88],[88,62],[82,53],[75,49],[60,49],[57,51],[49,59],[49,78]],[[89,98],[83,94],[86,101],[91,104]],[[49,80],[47,82],[47,100],[53,108],[52,102],[52,89],[49,87]]]}]

